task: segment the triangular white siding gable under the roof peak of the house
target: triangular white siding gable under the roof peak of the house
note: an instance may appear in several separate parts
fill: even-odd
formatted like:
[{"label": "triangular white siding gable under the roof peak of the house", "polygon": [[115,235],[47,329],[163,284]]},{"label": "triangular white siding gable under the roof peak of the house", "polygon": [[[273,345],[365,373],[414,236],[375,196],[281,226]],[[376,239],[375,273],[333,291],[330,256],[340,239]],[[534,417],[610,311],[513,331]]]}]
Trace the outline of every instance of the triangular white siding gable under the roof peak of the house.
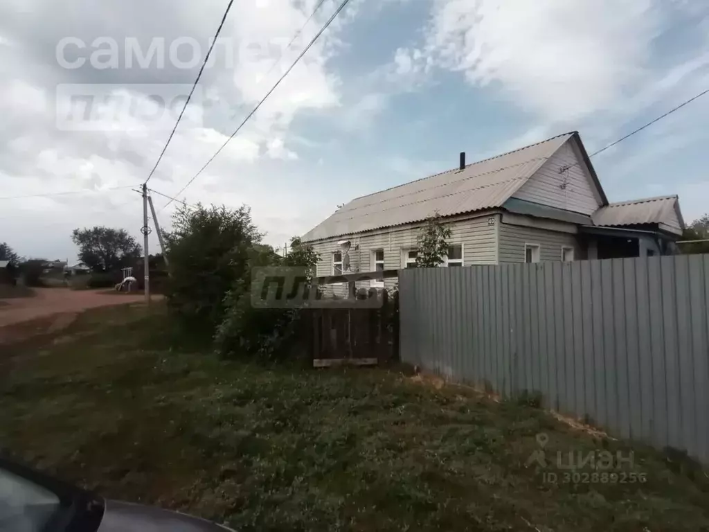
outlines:
[{"label": "triangular white siding gable under the roof peak of the house", "polygon": [[[562,167],[569,170],[559,173]],[[574,140],[568,140],[513,197],[590,215],[601,206],[595,190]]]}]

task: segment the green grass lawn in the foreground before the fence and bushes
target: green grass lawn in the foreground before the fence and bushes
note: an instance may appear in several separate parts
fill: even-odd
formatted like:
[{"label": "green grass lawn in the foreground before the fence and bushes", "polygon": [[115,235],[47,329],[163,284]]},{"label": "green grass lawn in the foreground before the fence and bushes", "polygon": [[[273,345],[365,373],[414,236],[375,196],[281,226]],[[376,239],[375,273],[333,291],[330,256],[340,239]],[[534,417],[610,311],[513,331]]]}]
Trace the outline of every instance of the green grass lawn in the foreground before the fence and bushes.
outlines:
[{"label": "green grass lawn in the foreground before the fence and bushes", "polygon": [[646,482],[593,482],[588,467],[564,482],[529,462],[540,433],[547,457],[630,446],[393,370],[175,348],[155,307],[92,311],[7,353],[0,447],[106,497],[240,531],[709,530],[709,480],[691,462],[635,447],[613,472]]}]

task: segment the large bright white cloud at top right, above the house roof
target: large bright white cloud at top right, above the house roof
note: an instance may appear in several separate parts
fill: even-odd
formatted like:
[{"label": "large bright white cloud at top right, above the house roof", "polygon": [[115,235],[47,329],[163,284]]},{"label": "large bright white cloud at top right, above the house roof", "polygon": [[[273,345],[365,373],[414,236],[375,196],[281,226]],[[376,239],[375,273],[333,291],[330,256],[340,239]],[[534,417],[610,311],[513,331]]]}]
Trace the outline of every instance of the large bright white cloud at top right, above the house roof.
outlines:
[{"label": "large bright white cloud at top right, above the house roof", "polygon": [[435,0],[421,60],[569,121],[644,75],[660,22],[652,0]]}]

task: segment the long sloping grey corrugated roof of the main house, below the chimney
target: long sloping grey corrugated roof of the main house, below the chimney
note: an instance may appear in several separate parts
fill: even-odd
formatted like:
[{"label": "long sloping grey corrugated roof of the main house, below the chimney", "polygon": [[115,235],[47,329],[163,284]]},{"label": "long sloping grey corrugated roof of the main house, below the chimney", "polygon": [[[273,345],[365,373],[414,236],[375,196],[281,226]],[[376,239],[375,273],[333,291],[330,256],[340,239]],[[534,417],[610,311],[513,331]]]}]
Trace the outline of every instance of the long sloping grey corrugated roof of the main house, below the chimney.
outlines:
[{"label": "long sloping grey corrugated roof of the main house, below the chimney", "polygon": [[574,133],[564,133],[497,157],[350,201],[303,235],[304,241],[501,206]]}]

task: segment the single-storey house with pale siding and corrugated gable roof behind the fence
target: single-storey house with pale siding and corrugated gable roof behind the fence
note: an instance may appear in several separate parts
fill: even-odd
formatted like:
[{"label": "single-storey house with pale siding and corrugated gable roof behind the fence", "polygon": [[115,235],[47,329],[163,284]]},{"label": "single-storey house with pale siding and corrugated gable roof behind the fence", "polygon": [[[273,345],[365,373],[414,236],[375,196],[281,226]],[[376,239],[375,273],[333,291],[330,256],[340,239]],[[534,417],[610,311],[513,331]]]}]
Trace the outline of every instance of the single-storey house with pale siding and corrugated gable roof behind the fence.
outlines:
[{"label": "single-storey house with pale siding and corrugated gable roof behind the fence", "polygon": [[461,153],[453,170],[353,199],[303,242],[318,276],[405,268],[435,211],[452,230],[449,267],[664,255],[685,228],[677,196],[609,203],[573,132],[471,165]]}]

